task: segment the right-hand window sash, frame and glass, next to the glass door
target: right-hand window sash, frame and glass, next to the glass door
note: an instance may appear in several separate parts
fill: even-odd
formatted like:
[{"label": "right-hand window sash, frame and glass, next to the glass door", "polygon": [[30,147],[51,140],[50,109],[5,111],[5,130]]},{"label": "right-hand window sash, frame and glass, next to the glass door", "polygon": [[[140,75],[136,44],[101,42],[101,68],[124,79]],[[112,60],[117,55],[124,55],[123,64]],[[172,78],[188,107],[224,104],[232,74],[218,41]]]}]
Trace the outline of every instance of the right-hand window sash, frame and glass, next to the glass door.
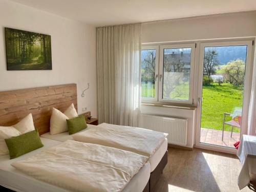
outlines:
[{"label": "right-hand window sash, frame and glass, next to the glass door", "polygon": [[160,46],[159,101],[192,103],[195,44]]}]

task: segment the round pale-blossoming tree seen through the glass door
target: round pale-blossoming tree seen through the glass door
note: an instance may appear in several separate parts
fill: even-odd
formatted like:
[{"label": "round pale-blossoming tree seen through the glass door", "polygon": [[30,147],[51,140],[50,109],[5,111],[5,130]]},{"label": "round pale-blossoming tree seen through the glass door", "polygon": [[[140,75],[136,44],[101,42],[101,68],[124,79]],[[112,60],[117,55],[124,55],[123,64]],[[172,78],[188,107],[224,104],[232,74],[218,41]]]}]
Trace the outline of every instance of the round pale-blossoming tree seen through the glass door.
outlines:
[{"label": "round pale-blossoming tree seen through the glass door", "polygon": [[245,62],[241,59],[230,61],[224,67],[224,72],[228,82],[239,86],[244,84],[245,77]]}]

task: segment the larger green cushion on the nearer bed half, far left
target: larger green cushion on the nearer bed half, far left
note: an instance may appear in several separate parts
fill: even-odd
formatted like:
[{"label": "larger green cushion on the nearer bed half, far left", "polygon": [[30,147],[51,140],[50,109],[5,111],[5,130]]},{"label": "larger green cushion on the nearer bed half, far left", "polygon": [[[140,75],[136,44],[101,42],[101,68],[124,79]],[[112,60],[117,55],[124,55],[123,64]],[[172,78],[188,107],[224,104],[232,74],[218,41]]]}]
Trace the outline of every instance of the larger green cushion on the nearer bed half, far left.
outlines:
[{"label": "larger green cushion on the nearer bed half, far left", "polygon": [[37,130],[5,139],[5,142],[9,149],[10,159],[14,159],[44,146]]}]

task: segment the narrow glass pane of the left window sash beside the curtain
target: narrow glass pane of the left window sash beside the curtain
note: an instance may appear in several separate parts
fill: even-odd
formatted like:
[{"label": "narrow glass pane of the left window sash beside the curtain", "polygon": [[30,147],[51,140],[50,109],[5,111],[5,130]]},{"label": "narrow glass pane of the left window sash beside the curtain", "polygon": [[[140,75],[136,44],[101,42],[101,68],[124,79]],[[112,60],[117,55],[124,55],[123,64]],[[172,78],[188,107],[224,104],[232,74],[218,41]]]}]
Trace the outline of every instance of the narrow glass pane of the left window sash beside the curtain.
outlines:
[{"label": "narrow glass pane of the left window sash beside the curtain", "polygon": [[156,50],[141,50],[141,96],[155,97]]}]

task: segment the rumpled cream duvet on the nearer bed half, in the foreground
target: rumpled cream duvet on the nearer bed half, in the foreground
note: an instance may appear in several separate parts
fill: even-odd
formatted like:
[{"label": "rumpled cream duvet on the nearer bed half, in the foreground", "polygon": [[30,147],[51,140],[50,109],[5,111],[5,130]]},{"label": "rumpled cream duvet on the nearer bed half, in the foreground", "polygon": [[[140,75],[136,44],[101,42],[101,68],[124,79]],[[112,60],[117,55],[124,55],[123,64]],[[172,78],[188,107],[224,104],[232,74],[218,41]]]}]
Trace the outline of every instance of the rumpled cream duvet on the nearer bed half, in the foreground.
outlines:
[{"label": "rumpled cream duvet on the nearer bed half, in the foreground", "polygon": [[121,191],[147,159],[112,147],[68,140],[11,165],[71,191]]}]

